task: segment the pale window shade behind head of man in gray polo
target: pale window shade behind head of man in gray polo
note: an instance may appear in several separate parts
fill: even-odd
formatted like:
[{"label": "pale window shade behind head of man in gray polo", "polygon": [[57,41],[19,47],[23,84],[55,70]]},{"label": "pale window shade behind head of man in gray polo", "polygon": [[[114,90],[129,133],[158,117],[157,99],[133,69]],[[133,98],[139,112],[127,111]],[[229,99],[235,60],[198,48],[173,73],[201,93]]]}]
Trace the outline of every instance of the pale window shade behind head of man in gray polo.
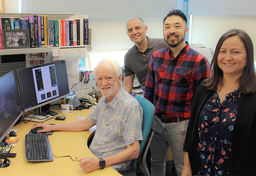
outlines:
[{"label": "pale window shade behind head of man in gray polo", "polygon": [[[91,53],[104,51],[128,50],[134,44],[126,34],[127,19],[89,18],[89,28],[92,28]],[[148,26],[147,36],[163,38],[163,20],[144,20]]]}]

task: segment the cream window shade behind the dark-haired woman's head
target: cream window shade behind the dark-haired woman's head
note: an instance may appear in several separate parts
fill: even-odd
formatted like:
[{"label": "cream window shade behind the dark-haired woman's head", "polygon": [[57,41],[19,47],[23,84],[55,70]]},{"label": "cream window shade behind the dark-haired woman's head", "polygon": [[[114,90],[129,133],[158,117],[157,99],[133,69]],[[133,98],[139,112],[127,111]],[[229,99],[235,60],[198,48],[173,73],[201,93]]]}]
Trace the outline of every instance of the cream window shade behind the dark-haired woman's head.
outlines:
[{"label": "cream window shade behind the dark-haired woman's head", "polygon": [[254,44],[256,61],[256,16],[193,15],[191,42],[215,50],[219,38],[228,30],[238,28],[248,33]]}]

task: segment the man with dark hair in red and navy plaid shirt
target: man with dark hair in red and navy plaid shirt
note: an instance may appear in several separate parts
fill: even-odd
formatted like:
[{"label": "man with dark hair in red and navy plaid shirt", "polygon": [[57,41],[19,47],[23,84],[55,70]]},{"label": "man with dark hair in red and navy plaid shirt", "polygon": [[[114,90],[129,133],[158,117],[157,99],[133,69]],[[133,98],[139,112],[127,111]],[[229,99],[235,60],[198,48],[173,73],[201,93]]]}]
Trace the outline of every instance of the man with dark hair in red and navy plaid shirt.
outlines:
[{"label": "man with dark hair in red and navy plaid shirt", "polygon": [[149,63],[144,97],[155,106],[155,133],[150,144],[152,176],[165,175],[169,146],[181,175],[192,100],[199,84],[210,76],[207,59],[186,43],[187,32],[186,15],[171,10],[163,20],[163,36],[169,46],[155,51]]}]

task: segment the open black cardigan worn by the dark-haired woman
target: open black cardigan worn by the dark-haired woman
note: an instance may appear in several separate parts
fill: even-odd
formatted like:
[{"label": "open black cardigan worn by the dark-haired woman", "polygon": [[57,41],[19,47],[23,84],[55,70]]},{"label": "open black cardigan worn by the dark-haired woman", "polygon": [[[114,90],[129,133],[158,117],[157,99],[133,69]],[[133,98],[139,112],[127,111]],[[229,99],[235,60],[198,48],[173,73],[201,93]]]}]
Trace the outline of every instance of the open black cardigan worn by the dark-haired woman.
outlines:
[{"label": "open black cardigan worn by the dark-haired woman", "polygon": [[[193,175],[198,172],[199,113],[213,94],[200,85],[194,97],[183,150],[188,152]],[[256,175],[256,92],[241,94],[232,137],[229,175]]]}]

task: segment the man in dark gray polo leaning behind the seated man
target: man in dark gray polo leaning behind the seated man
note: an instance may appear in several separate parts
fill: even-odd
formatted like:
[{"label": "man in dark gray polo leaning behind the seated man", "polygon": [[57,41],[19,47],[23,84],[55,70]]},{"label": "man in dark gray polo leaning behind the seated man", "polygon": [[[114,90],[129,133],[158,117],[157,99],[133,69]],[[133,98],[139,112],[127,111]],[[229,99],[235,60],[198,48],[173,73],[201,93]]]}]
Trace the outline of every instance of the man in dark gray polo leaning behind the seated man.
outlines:
[{"label": "man in dark gray polo leaning behind the seated man", "polygon": [[133,16],[126,23],[126,33],[135,44],[124,56],[124,90],[131,93],[135,74],[144,92],[147,70],[152,54],[165,48],[167,43],[163,38],[146,36],[147,26],[140,17]]}]

